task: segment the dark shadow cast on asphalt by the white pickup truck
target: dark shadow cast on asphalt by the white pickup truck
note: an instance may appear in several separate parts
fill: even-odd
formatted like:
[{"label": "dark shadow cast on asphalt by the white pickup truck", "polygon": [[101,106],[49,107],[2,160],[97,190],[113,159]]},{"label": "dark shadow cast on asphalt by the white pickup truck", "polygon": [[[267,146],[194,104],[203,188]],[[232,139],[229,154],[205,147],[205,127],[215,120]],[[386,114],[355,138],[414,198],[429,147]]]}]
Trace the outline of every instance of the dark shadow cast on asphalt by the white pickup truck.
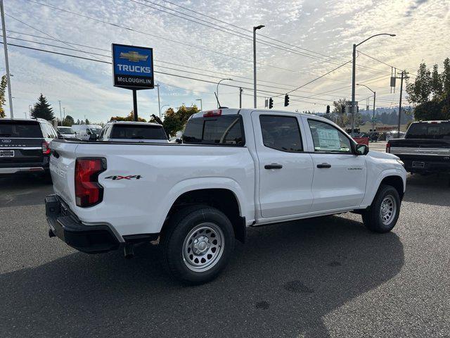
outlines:
[{"label": "dark shadow cast on asphalt by the white pickup truck", "polygon": [[1,275],[0,336],[330,337],[324,317],[404,264],[394,232],[339,216],[249,229],[224,273],[198,287],[163,273],[156,253],[69,253]]}]

